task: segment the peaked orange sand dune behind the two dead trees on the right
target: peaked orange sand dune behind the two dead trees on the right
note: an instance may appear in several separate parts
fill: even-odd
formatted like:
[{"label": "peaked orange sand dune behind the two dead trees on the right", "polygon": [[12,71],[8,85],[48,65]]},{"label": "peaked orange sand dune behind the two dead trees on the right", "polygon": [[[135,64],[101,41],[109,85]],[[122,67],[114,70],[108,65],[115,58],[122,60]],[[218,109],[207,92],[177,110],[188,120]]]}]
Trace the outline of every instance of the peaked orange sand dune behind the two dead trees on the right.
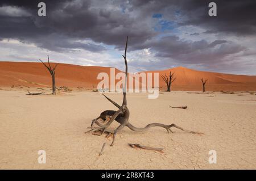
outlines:
[{"label": "peaked orange sand dune behind the two dead trees on the right", "polygon": [[[172,84],[172,90],[201,90],[201,78],[208,79],[206,84],[208,91],[255,91],[256,90],[256,76],[249,75],[234,75],[214,73],[208,71],[198,71],[177,67],[167,70],[151,71],[158,72],[160,75],[167,75],[175,73],[176,80]],[[150,72],[150,71],[148,71]],[[162,78],[159,79],[159,87],[165,87]]]}]

